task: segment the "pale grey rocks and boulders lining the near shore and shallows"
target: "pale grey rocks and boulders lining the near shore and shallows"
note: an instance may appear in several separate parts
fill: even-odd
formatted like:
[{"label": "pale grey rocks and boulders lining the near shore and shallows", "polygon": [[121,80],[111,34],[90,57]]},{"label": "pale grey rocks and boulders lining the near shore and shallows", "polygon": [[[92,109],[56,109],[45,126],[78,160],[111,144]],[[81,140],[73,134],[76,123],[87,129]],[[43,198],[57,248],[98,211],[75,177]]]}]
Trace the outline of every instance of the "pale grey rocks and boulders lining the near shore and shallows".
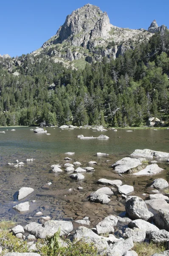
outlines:
[{"label": "pale grey rocks and boulders lining the near shore and shallows", "polygon": [[[97,153],[98,156],[105,154]],[[82,173],[94,173],[95,169],[93,167],[97,165],[96,161],[90,161],[88,167],[74,169],[75,166],[80,166],[81,163],[77,161],[70,163],[72,159],[69,157],[65,157],[65,159],[67,163],[64,166],[53,165],[51,166],[52,171],[63,172],[61,168],[65,167],[65,172],[75,172],[72,175],[80,175],[78,177],[84,179],[85,176]],[[168,160],[169,153],[149,149],[135,150],[131,157],[124,157],[118,160],[112,164],[112,167],[114,169],[113,172],[117,173],[119,177],[121,173],[125,175],[125,172],[131,175],[139,174],[140,172],[141,175],[155,175],[163,171],[162,168],[158,167],[157,163]],[[68,168],[72,169],[69,171]],[[69,177],[71,178],[71,175]],[[154,179],[151,186],[149,186],[149,189],[151,189],[149,195],[143,194],[145,200],[132,195],[135,187],[123,184],[121,179],[107,180],[102,178],[96,182],[106,186],[102,186],[88,195],[86,194],[89,204],[96,204],[99,207],[101,204],[106,204],[109,208],[108,204],[110,202],[113,203],[115,195],[118,195],[125,202],[125,215],[112,215],[112,208],[110,208],[110,215],[101,218],[101,221],[93,226],[88,216],[79,215],[79,219],[72,222],[51,220],[51,217],[43,216],[42,212],[37,212],[39,223],[29,221],[24,227],[17,225],[12,228],[11,232],[18,238],[28,241],[30,252],[36,250],[35,242],[37,239],[53,236],[59,227],[61,227],[61,236],[68,236],[68,238],[76,239],[76,241],[85,239],[87,243],[94,242],[99,254],[106,252],[109,256],[137,255],[132,251],[133,242],[153,241],[167,243],[169,241],[169,193],[167,190],[169,184],[166,180],[162,178]],[[50,185],[46,184],[46,186]],[[78,190],[82,193],[83,187],[78,187]],[[18,200],[27,197],[33,191],[34,189],[29,187],[21,188],[18,192]],[[17,204],[13,208],[17,209],[18,212],[25,212],[29,210],[29,202]],[[166,251],[166,253],[169,253],[169,251]],[[8,253],[8,255],[10,254]]]}]

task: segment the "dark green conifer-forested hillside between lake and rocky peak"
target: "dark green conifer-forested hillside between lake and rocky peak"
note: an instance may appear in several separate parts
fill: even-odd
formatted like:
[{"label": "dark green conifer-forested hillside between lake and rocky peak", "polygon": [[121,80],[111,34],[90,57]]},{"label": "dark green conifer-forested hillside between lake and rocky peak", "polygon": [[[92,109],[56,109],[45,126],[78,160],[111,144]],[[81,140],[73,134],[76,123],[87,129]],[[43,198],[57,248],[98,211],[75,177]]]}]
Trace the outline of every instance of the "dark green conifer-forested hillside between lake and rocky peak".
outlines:
[{"label": "dark green conifer-forested hillside between lake and rocky peak", "polygon": [[[14,63],[14,69],[11,69]],[[0,57],[0,125],[169,122],[169,31],[115,60],[66,69],[45,55]]]}]

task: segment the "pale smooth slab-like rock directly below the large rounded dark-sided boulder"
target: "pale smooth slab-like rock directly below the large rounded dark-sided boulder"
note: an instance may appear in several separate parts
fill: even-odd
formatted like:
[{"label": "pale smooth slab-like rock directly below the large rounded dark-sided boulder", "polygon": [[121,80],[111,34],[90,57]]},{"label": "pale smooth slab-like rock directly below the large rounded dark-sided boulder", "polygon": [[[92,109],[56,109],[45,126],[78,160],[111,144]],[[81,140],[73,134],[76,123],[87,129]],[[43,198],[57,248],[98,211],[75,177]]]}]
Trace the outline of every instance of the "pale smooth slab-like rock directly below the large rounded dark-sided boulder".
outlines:
[{"label": "pale smooth slab-like rock directly below the large rounded dark-sided boulder", "polygon": [[144,221],[144,220],[135,220],[135,221],[131,221],[128,226],[130,228],[134,228],[137,227],[140,230],[144,230],[146,232],[146,234],[151,233],[152,231],[158,231],[159,228],[156,227],[155,225],[149,223],[148,221]]}]

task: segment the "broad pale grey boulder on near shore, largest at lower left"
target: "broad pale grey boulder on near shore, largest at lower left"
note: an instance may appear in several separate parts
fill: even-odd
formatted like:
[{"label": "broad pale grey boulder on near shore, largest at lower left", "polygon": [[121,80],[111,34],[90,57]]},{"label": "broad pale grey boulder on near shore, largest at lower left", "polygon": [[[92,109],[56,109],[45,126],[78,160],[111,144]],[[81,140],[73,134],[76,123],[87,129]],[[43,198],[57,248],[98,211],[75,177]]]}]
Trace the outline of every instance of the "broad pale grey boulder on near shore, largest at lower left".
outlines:
[{"label": "broad pale grey boulder on near shore, largest at lower left", "polygon": [[73,230],[71,221],[46,221],[34,229],[34,235],[37,239],[45,239],[47,236],[53,236],[59,227],[61,229],[59,236],[68,235]]}]

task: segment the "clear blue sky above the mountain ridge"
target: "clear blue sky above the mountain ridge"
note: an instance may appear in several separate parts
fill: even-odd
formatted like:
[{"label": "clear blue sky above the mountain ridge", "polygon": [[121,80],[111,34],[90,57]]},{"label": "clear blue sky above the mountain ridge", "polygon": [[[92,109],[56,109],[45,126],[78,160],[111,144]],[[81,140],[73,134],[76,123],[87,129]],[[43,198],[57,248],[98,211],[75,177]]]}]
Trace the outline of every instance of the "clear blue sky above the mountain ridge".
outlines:
[{"label": "clear blue sky above the mountain ridge", "polygon": [[[89,0],[0,0],[0,54],[30,53],[56,34],[73,10]],[[152,20],[169,28],[169,0],[90,0],[106,11],[110,23],[148,29]]]}]

